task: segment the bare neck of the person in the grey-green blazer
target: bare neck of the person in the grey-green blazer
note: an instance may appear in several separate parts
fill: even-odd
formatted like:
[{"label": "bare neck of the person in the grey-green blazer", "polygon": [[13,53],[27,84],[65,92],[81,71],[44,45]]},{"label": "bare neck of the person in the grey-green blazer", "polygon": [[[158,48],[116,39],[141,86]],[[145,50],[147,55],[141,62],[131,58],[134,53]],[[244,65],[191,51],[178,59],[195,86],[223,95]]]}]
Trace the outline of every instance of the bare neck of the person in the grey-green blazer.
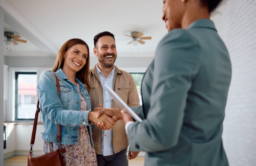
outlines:
[{"label": "bare neck of the person in the grey-green blazer", "polygon": [[187,1],[187,10],[181,21],[181,28],[187,29],[187,27],[194,21],[200,19],[210,19],[208,7],[198,5],[193,1]]}]

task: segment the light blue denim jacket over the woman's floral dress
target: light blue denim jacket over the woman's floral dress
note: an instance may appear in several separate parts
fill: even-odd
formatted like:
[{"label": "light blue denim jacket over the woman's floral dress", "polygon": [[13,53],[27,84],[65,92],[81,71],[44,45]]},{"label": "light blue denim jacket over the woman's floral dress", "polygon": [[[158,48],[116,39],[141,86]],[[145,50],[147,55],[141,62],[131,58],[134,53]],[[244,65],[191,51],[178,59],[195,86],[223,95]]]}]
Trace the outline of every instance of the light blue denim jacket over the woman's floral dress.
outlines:
[{"label": "light blue denim jacket over the woman's floral dress", "polygon": [[[87,110],[80,111],[80,96],[77,87],[68,80],[62,69],[55,72],[59,78],[60,99],[56,86],[55,75],[52,71],[43,71],[37,84],[37,94],[40,108],[43,114],[43,140],[49,142],[57,141],[58,125],[61,125],[60,144],[77,145],[79,126],[87,126],[91,138],[91,121],[88,115],[91,111],[91,98],[85,85],[77,78],[80,92],[87,102]],[[91,145],[93,141],[91,139]]]}]

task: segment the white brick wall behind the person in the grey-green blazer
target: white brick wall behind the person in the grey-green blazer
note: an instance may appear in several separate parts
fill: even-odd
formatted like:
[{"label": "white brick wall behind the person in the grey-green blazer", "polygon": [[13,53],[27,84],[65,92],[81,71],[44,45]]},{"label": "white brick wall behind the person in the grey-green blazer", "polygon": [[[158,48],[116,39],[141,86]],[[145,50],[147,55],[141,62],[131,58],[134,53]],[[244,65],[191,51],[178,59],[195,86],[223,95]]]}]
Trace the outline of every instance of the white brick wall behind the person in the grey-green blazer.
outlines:
[{"label": "white brick wall behind the person in the grey-green blazer", "polygon": [[232,63],[223,141],[230,166],[256,166],[256,0],[228,0],[213,15]]}]

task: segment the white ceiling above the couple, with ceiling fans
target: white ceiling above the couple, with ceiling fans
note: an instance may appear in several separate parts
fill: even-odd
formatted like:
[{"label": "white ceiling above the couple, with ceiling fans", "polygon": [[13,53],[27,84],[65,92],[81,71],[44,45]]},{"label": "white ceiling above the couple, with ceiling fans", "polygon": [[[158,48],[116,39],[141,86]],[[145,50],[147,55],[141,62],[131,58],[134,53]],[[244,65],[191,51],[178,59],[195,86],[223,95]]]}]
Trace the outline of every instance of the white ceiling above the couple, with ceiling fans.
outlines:
[{"label": "white ceiling above the couple, with ceiling fans", "polygon": [[[26,30],[12,27],[8,25],[10,21],[5,21],[5,29],[13,29],[22,39],[28,40],[27,44],[12,46],[12,53],[7,51],[7,55],[18,55],[19,52],[37,52],[38,55],[52,52],[56,55],[61,45],[71,38],[85,40],[91,52],[93,37],[99,32],[110,31],[115,35],[118,54],[136,53],[139,56],[142,53],[145,56],[149,53],[152,56],[159,41],[167,34],[161,20],[162,0],[0,0],[0,5],[22,25],[21,28],[45,46],[38,45],[35,38],[25,33]],[[152,36],[152,40],[144,40],[144,45],[127,45],[130,40],[121,40],[128,39],[123,34],[130,35],[134,30]]]}]

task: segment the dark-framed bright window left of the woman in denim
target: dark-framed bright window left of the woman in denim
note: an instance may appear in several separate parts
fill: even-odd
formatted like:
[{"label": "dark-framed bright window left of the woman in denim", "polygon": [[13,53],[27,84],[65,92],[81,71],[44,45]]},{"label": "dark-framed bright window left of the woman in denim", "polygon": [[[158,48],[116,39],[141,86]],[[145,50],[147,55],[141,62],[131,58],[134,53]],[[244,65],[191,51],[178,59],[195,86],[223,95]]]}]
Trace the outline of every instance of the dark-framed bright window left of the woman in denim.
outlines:
[{"label": "dark-framed bright window left of the woman in denim", "polygon": [[15,120],[34,120],[37,106],[37,73],[15,72]]}]

